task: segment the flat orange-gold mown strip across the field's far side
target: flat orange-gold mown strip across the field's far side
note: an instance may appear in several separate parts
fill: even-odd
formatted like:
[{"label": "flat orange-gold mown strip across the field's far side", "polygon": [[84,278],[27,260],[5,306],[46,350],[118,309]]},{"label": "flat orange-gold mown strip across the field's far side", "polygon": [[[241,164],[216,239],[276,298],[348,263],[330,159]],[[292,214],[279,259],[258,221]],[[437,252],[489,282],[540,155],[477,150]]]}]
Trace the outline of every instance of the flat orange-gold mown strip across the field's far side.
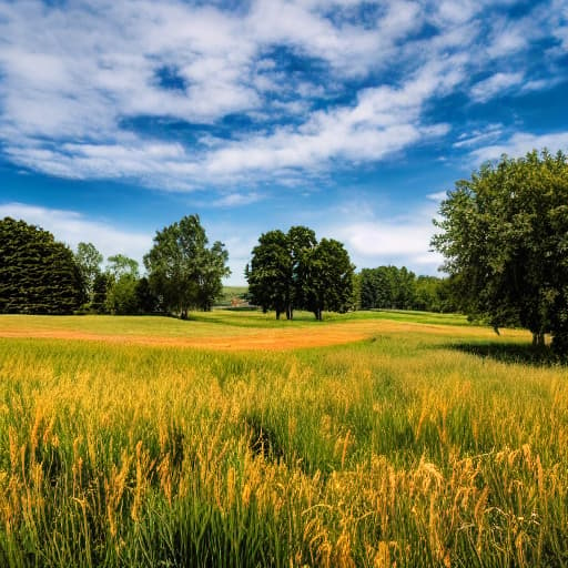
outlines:
[{"label": "flat orange-gold mown strip across the field's far side", "polygon": [[[225,314],[224,314],[225,315]],[[225,317],[234,318],[234,313]],[[250,316],[248,316],[250,317]],[[210,324],[206,318],[197,322],[180,322],[163,317],[120,318],[130,320],[129,333],[123,326],[112,329],[108,325],[91,328],[91,322],[99,324],[97,316],[85,317],[34,317],[0,316],[0,337],[33,337],[65,341],[101,341],[133,345],[162,345],[174,347],[199,347],[206,349],[294,349],[298,347],[324,347],[354,343],[377,334],[435,334],[446,337],[471,336],[495,338],[487,327],[455,326],[448,324],[424,324],[417,322],[397,322],[390,320],[344,321],[332,324],[294,325],[295,322],[282,322],[280,327],[221,327]],[[263,318],[264,321],[264,318]],[[262,323],[263,321],[260,321]],[[148,322],[159,323],[148,327]],[[136,327],[138,324],[139,325]],[[304,323],[304,322],[302,322]],[[70,325],[71,324],[71,325]],[[73,325],[74,324],[74,325]],[[87,324],[87,325],[85,325]],[[94,326],[92,326],[94,327]],[[501,341],[526,339],[527,332],[519,329],[503,331]]]}]

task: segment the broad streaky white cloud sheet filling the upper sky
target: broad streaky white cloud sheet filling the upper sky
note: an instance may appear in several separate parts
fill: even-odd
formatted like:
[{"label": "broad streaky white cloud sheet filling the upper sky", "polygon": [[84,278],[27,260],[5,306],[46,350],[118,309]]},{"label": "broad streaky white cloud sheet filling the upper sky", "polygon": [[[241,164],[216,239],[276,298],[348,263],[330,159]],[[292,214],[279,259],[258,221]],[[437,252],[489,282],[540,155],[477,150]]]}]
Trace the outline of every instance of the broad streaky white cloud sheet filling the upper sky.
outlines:
[{"label": "broad streaky white cloud sheet filling the upper sky", "polygon": [[[551,28],[564,33],[561,21],[548,23],[538,9],[519,22],[484,22],[485,12],[509,0],[390,0],[365,21],[354,16],[361,3],[253,0],[236,10],[181,0],[0,3],[3,152],[51,175],[128,178],[166,190],[255,178],[292,183],[297,170],[317,175],[336,160],[379,161],[444,135],[449,128],[428,120],[429,103],[467,88],[471,70],[495,67]],[[432,36],[420,33],[425,26]],[[303,61],[306,72],[285,69],[278,50]],[[161,83],[163,69],[176,88]],[[497,71],[473,97],[486,101],[524,74]],[[540,88],[540,79],[527,79]],[[327,105],[358,80],[372,87]],[[197,143],[170,142],[133,125],[144,118],[199,129],[233,113],[247,114],[253,125],[235,126],[231,140],[199,134]],[[271,130],[275,116],[281,126]]]}]

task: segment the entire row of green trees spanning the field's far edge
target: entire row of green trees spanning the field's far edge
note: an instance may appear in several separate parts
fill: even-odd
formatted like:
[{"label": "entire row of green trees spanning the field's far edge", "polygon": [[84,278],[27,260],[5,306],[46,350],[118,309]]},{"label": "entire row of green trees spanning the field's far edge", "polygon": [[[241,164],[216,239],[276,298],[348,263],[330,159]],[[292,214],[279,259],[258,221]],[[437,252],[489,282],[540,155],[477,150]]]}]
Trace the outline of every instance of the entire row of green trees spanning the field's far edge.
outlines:
[{"label": "entire row of green trees spanning the field's far edge", "polygon": [[[456,182],[439,209],[433,248],[447,278],[378,266],[355,275],[344,245],[292,226],[258,239],[246,266],[252,303],[276,317],[308,310],[462,311],[499,327],[550,334],[568,353],[568,159],[546,150],[506,155]],[[23,221],[0,221],[0,313],[175,313],[210,310],[230,274],[221,242],[209,245],[197,215],[158,231],[144,256],[146,276],[124,255],[77,253]]]}]

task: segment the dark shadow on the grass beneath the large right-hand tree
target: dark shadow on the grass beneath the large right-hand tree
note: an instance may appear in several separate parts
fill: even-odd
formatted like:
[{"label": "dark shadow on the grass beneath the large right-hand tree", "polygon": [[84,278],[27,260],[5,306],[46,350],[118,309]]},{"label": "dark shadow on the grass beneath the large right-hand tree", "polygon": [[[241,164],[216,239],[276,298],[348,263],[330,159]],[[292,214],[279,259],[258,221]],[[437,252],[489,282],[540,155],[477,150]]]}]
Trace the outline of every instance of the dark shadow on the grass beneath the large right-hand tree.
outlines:
[{"label": "dark shadow on the grass beneath the large right-hand tree", "polygon": [[500,363],[521,363],[536,367],[568,364],[566,356],[562,358],[549,347],[535,347],[530,343],[459,342],[446,344],[444,347]]}]

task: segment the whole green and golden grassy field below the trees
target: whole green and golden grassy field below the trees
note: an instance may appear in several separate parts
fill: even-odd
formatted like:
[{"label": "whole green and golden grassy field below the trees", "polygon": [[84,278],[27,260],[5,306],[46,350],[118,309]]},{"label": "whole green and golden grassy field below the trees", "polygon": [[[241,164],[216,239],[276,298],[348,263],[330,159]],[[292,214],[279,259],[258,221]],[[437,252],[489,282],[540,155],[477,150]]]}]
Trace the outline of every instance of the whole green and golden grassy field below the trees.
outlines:
[{"label": "whole green and golden grassy field below the trees", "polygon": [[0,566],[568,566],[527,333],[272,317],[0,316]]}]

